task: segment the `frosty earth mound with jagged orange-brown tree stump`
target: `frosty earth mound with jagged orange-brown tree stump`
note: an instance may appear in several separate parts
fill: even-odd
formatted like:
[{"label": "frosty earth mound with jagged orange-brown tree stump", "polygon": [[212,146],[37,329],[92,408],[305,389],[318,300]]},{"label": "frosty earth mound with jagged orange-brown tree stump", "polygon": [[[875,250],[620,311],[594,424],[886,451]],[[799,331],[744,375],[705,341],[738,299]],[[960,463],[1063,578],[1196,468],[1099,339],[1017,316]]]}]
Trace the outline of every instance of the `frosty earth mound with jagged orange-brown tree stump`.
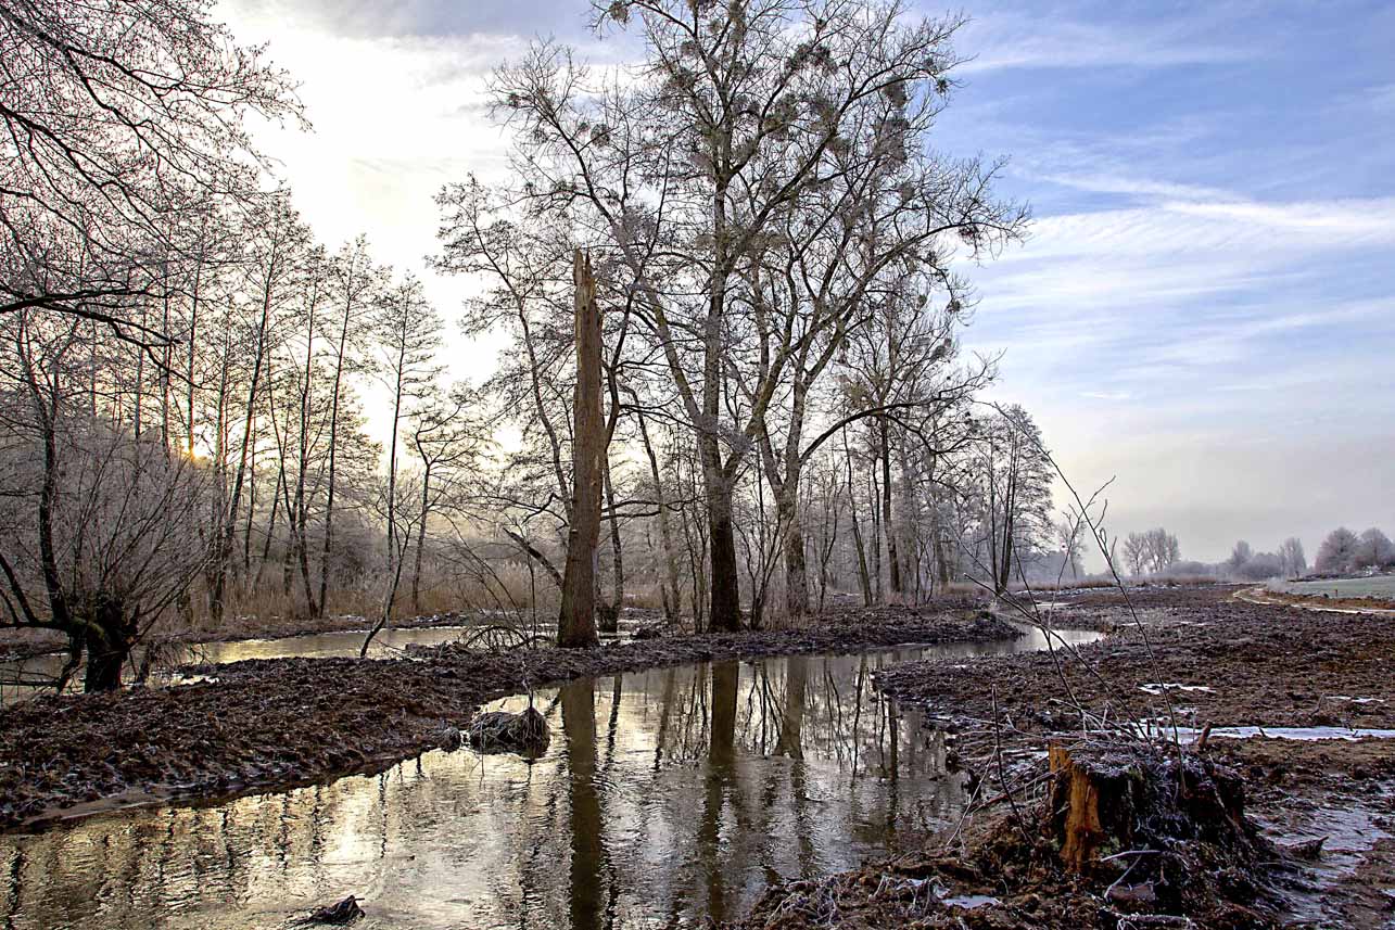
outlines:
[{"label": "frosty earth mound with jagged orange-brown tree stump", "polygon": [[[1239,772],[1158,747],[1077,740],[1010,810],[925,849],[771,888],[741,930],[1274,929],[1292,856],[1244,817]],[[1081,788],[1085,788],[1081,791]],[[986,795],[983,795],[986,798]],[[1081,848],[1081,842],[1088,845]],[[1187,915],[1187,916],[1180,916]]]}]

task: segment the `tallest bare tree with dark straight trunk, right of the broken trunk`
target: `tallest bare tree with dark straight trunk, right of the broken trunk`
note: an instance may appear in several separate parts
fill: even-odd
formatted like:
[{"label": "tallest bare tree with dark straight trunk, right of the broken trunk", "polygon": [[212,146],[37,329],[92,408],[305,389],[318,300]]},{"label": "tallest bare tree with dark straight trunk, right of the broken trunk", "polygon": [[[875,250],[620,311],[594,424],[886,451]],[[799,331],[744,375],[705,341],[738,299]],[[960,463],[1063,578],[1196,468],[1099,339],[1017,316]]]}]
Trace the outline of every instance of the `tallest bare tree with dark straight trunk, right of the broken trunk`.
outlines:
[{"label": "tallest bare tree with dark straight trunk, right of the broken trunk", "polygon": [[[890,7],[815,11],[788,0],[720,6],[721,15],[681,0],[601,4],[603,20],[632,24],[646,45],[632,81],[593,92],[569,53],[543,45],[498,73],[495,96],[520,130],[523,192],[543,208],[585,208],[597,243],[629,268],[698,443],[709,625],[731,630],[741,619],[737,480],[792,353],[822,332],[759,354],[762,326],[748,325],[755,262],[788,216],[848,170],[838,163],[848,148],[854,160],[919,158],[950,86],[960,21],[903,25]],[[925,204],[914,220],[922,237],[958,230],[976,245],[1000,231],[1002,218],[981,209],[990,173],[963,171],[974,188],[963,197],[908,185],[907,198]],[[742,358],[745,383],[732,393],[730,365]]]}]

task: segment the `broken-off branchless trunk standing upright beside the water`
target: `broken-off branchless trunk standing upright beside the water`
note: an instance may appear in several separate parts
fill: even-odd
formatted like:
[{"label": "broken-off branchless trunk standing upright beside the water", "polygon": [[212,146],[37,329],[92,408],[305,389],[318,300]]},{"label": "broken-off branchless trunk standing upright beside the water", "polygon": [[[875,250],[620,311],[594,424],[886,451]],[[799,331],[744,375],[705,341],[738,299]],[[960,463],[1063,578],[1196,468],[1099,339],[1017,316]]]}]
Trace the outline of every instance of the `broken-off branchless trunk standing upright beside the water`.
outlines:
[{"label": "broken-off branchless trunk standing upright beside the water", "polygon": [[601,315],[596,304],[596,277],[590,258],[580,250],[572,257],[576,287],[576,389],[572,416],[572,521],[566,530],[566,570],[562,576],[562,608],[557,644],[594,646],[596,549],[601,531],[601,468],[605,424],[601,420]]}]

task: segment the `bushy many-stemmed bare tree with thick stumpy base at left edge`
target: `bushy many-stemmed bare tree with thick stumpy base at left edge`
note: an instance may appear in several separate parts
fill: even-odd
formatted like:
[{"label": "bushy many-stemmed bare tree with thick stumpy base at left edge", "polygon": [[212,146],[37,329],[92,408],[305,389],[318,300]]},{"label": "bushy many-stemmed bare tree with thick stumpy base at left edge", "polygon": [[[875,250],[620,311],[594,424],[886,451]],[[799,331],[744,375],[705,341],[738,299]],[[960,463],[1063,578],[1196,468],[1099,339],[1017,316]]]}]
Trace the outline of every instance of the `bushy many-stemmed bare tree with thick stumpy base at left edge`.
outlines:
[{"label": "bushy many-stemmed bare tree with thick stumpy base at left edge", "polygon": [[67,636],[60,689],[85,650],[85,689],[113,690],[205,558],[197,523],[211,475],[84,409],[77,321],[17,311],[7,330],[18,363],[0,411],[7,625]]}]

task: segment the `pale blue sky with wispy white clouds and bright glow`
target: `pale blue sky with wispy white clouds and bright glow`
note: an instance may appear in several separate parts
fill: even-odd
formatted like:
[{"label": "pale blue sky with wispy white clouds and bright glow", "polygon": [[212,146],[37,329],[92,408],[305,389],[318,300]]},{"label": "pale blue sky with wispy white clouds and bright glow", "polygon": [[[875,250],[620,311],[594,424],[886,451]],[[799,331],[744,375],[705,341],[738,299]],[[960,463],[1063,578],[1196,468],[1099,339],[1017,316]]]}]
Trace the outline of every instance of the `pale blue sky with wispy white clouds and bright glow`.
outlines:
[{"label": "pale blue sky with wispy white clouds and bright glow", "polygon": [[[947,11],[914,0],[926,14]],[[1236,540],[1311,558],[1338,524],[1395,533],[1395,4],[988,3],[932,144],[1007,158],[1021,245],[961,269],[964,343],[1002,353],[1071,482],[1112,481],[1112,533],[1183,558]],[[312,132],[261,127],[322,241],[363,231],[452,319],[470,283],[424,270],[432,194],[505,171],[485,79],[536,36],[593,61],[633,43],[585,0],[222,0],[300,81]],[[451,337],[452,371],[498,344]]]}]

